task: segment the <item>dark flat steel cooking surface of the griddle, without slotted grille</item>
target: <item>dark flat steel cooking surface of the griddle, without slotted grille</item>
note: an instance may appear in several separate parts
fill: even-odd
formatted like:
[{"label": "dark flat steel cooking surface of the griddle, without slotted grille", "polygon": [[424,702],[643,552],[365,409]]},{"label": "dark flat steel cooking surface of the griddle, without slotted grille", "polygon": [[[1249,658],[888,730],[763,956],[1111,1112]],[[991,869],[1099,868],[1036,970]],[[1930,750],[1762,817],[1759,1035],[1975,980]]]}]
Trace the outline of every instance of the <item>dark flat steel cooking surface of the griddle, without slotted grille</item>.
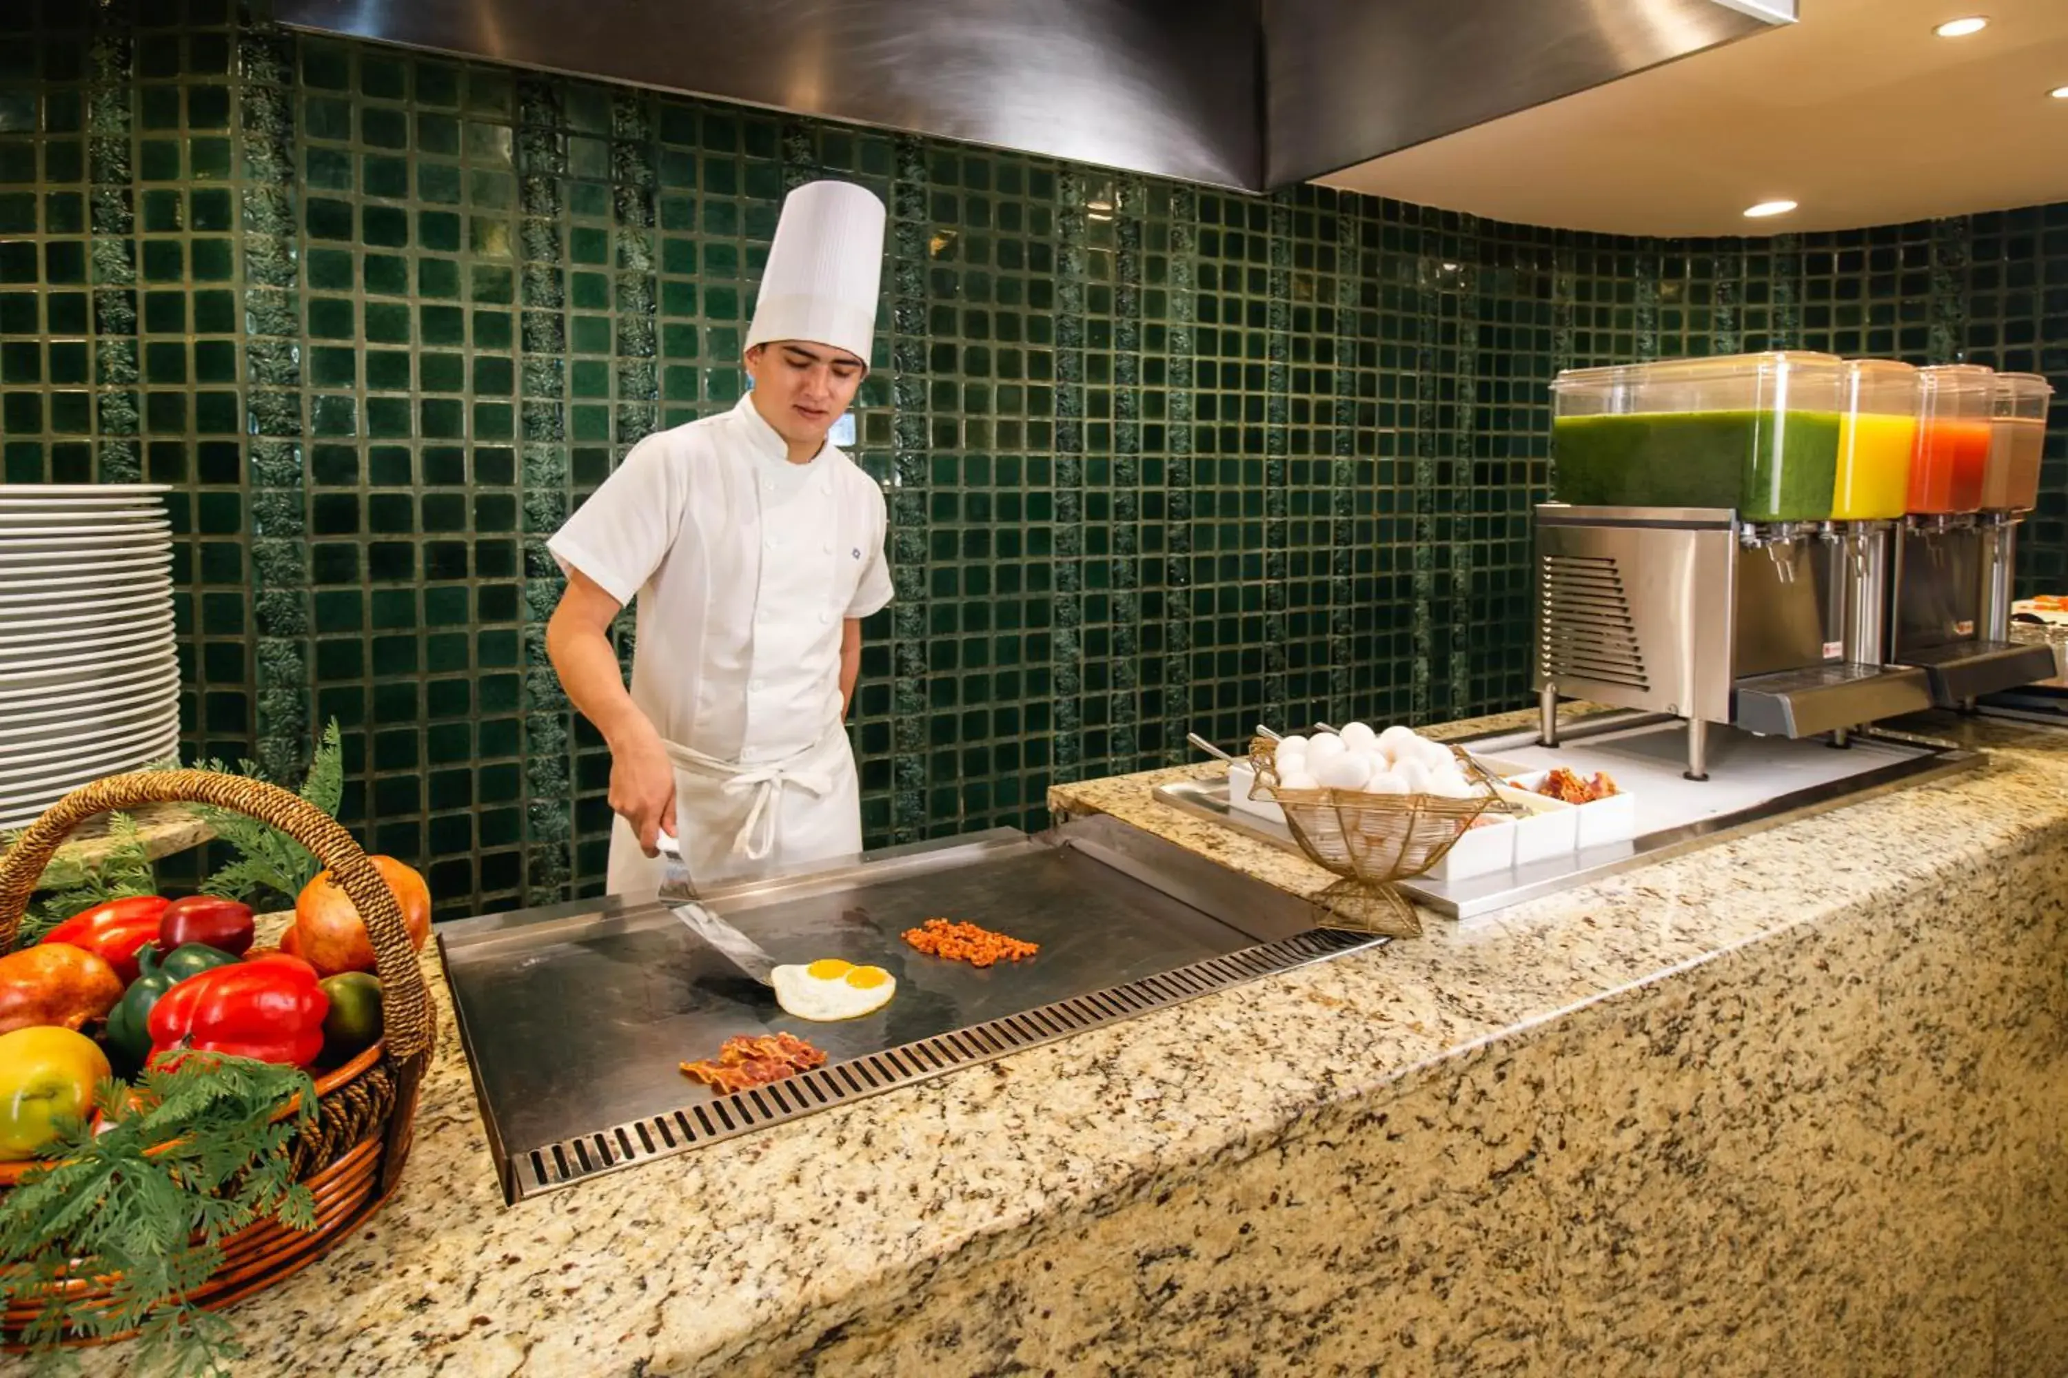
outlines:
[{"label": "dark flat steel cooking surface of the griddle, without slotted grille", "polygon": [[[676,1064],[713,1058],[738,1033],[788,1031],[842,1062],[1257,942],[1088,855],[1036,843],[951,870],[711,907],[780,963],[873,963],[898,977],[898,996],[856,1021],[792,1019],[670,911],[616,901],[447,944],[505,1153],[711,1099]],[[970,919],[1038,942],[1040,954],[982,971],[926,957],[900,934],[929,917]]]}]

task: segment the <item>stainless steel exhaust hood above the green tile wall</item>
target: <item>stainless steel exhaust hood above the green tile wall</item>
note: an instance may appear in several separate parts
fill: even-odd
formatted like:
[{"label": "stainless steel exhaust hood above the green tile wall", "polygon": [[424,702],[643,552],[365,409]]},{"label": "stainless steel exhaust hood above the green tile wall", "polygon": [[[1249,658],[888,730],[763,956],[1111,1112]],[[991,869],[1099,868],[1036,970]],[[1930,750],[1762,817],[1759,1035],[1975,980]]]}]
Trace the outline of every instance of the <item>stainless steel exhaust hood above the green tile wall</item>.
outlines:
[{"label": "stainless steel exhaust hood above the green tile wall", "polygon": [[1795,0],[275,0],[281,23],[1266,190]]}]

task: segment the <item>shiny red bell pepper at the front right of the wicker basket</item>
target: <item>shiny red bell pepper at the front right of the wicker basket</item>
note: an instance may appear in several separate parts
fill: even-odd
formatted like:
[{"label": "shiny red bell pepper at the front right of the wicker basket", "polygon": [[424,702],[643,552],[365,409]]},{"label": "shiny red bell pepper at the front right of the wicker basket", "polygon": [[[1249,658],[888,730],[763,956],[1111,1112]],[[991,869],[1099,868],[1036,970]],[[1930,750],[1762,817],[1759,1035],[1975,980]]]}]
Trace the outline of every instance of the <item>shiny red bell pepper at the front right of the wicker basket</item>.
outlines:
[{"label": "shiny red bell pepper at the front right of the wicker basket", "polygon": [[209,967],[151,1006],[151,1058],[182,1050],[308,1066],[323,1052],[331,998],[300,957],[269,952]]}]

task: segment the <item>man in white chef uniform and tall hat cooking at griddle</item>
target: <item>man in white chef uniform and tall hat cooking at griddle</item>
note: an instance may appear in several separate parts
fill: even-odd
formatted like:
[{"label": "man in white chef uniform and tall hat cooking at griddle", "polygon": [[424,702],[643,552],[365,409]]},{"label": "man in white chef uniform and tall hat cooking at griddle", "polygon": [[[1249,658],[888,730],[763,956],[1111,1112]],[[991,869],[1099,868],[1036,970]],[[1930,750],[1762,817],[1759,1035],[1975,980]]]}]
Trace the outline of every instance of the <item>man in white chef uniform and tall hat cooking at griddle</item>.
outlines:
[{"label": "man in white chef uniform and tall hat cooking at griddle", "polygon": [[[790,192],[747,331],[753,388],[647,436],[548,541],[546,653],[610,744],[610,892],[660,888],[656,837],[703,884],[862,849],[844,719],[862,618],[891,601],[883,492],[827,432],[869,372],[883,202]],[[631,688],[610,647],[637,599]]]}]

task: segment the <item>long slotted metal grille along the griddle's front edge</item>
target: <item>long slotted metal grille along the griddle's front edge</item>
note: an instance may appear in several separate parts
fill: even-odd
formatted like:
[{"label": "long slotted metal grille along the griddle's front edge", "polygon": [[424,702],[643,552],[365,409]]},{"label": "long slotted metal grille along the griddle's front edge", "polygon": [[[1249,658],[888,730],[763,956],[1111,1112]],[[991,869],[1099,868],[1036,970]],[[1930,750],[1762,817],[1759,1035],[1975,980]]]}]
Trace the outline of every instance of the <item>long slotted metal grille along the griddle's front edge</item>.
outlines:
[{"label": "long slotted metal grille along the griddle's front edge", "polygon": [[1226,957],[1191,963],[1160,975],[1071,996],[1034,1010],[955,1029],[866,1058],[850,1058],[813,1072],[800,1072],[767,1087],[697,1101],[649,1120],[513,1155],[509,1196],[521,1200],[598,1173],[631,1167],[670,1153],[687,1153],[722,1138],[749,1134],[771,1124],[858,1101],[879,1091],[904,1087],[955,1068],[991,1062],[1022,1047],[1053,1043],[1086,1029],[1148,1014],[1195,996],[1255,981],[1274,971],[1342,957],[1386,942],[1371,934],[1317,928],[1282,942],[1266,942]]}]

